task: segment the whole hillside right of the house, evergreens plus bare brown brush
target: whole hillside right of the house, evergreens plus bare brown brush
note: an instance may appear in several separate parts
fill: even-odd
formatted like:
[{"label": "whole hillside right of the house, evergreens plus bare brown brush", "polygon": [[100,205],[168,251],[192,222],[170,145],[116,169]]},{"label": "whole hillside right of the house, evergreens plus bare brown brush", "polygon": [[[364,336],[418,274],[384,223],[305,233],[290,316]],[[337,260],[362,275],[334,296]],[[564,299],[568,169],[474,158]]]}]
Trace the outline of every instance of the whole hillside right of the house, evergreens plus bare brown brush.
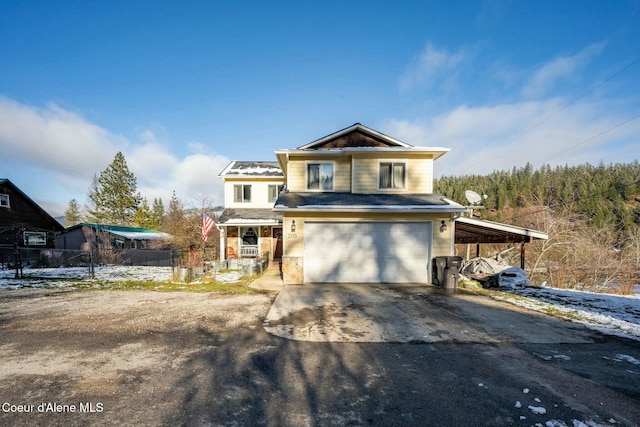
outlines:
[{"label": "whole hillside right of the house, evergreens plus bare brown brush", "polygon": [[[549,240],[530,245],[527,252],[527,270],[534,282],[625,293],[640,284],[637,160],[537,170],[527,164],[484,176],[434,181],[435,193],[468,205],[465,190],[487,195],[483,208],[475,210],[482,218],[549,235]],[[486,246],[484,256],[504,249]]]}]

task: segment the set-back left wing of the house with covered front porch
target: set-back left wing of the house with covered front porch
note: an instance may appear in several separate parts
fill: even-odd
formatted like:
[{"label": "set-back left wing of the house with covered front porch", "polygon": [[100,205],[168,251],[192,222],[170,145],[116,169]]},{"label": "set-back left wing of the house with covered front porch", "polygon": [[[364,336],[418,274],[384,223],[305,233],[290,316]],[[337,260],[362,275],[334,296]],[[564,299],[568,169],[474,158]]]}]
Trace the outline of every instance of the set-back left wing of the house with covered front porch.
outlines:
[{"label": "set-back left wing of the house with covered front porch", "polygon": [[273,205],[284,184],[277,162],[233,161],[224,179],[224,211],[218,220],[220,258],[282,256],[282,214]]}]

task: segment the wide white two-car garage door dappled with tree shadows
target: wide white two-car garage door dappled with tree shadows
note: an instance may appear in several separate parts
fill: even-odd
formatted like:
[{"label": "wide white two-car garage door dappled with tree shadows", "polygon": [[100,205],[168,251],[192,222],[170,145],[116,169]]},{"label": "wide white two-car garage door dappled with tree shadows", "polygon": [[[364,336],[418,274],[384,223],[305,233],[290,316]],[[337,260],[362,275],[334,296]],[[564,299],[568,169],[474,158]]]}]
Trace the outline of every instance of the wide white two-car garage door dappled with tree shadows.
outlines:
[{"label": "wide white two-car garage door dappled with tree shadows", "polygon": [[305,222],[307,283],[426,283],[431,222]]}]

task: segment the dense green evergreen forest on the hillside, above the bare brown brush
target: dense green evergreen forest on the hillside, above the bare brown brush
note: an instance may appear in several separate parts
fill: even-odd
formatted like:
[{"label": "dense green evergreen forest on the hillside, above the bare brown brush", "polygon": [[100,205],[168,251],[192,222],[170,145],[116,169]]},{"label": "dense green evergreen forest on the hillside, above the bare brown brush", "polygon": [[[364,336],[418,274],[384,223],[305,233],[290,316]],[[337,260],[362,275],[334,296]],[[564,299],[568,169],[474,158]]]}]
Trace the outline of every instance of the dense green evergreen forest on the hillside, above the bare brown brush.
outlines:
[{"label": "dense green evergreen forest on the hillside, above the bare brown brush", "polygon": [[557,213],[574,213],[596,226],[626,230],[640,225],[640,163],[593,166],[543,166],[530,164],[489,175],[443,177],[435,180],[434,192],[468,204],[465,190],[488,197],[484,217],[508,219],[513,209],[541,206]]}]

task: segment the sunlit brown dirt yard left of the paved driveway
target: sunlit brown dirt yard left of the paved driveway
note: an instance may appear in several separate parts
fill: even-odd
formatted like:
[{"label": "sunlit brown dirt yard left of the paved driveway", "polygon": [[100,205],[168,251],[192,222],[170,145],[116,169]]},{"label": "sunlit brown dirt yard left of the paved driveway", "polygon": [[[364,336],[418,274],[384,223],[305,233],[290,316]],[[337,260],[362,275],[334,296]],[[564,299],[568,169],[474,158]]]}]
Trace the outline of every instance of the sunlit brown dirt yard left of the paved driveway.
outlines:
[{"label": "sunlit brown dirt yard left of the paved driveway", "polygon": [[261,328],[273,298],[2,291],[0,425],[162,425],[185,364],[214,334]]}]

